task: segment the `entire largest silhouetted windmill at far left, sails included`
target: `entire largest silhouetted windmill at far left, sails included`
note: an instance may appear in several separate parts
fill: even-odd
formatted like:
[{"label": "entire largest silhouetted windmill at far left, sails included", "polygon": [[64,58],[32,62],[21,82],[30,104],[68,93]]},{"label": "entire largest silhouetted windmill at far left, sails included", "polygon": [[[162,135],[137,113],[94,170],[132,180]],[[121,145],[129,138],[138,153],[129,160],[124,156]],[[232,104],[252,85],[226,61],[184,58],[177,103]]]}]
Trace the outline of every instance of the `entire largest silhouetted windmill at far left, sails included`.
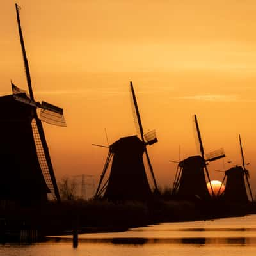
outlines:
[{"label": "entire largest silhouetted windmill at far left, sails included", "polygon": [[[0,199],[26,205],[40,204],[47,200],[48,194],[60,201],[41,120],[65,126],[63,109],[35,101],[19,11],[16,4],[29,95],[12,84],[13,95],[0,97]],[[36,112],[38,108],[41,109],[41,119]]]}]

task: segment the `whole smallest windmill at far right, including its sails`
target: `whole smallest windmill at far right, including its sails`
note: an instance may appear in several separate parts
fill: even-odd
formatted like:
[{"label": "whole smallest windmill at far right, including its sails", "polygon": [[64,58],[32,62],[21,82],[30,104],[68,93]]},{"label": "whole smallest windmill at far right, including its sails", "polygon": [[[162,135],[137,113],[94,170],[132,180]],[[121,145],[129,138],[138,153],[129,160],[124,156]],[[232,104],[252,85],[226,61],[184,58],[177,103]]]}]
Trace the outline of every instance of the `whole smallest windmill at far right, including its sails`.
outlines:
[{"label": "whole smallest windmill at far right, including its sails", "polygon": [[[241,136],[239,134],[239,147],[241,150],[242,166],[234,166],[225,171],[223,182],[226,180],[224,198],[233,202],[248,202],[248,195],[246,192],[246,186],[250,193],[250,199],[253,201],[252,189],[250,186],[249,171],[245,168],[248,163],[244,161],[244,152],[241,142]],[[222,182],[222,183],[223,183]]]}]

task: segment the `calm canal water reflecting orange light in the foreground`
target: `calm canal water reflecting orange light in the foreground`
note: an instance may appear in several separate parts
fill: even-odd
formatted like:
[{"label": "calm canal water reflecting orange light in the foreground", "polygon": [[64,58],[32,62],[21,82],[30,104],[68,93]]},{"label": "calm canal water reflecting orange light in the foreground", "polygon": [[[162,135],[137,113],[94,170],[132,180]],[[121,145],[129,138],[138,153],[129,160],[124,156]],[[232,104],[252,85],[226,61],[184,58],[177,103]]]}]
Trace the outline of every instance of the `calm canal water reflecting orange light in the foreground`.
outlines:
[{"label": "calm canal water reflecting orange light in the foreground", "polygon": [[126,232],[49,237],[45,243],[0,245],[0,256],[256,255],[256,215],[160,223]]}]

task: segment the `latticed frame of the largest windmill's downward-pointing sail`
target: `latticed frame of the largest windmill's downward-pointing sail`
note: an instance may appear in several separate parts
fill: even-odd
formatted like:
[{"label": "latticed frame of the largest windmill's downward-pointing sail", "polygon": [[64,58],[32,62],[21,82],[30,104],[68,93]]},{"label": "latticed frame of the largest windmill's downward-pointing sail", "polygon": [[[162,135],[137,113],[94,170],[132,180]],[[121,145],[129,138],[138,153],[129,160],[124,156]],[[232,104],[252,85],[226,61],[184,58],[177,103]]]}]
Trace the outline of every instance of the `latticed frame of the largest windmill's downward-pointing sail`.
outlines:
[{"label": "latticed frame of the largest windmill's downward-pointing sail", "polygon": [[42,141],[40,139],[40,134],[39,134],[39,131],[38,131],[38,127],[36,125],[35,118],[32,120],[31,126],[32,126],[34,141],[35,141],[36,154],[37,154],[37,157],[38,157],[38,161],[39,161],[39,164],[40,164],[42,174],[44,175],[45,183],[47,184],[47,187],[51,191],[52,198],[54,200],[57,200],[57,196],[55,194],[54,186],[52,184],[52,179],[51,179],[51,175],[50,175],[50,172],[49,172],[49,166],[47,164],[47,160],[46,160],[45,153],[44,153],[44,148],[43,148],[43,145],[42,145]]}]

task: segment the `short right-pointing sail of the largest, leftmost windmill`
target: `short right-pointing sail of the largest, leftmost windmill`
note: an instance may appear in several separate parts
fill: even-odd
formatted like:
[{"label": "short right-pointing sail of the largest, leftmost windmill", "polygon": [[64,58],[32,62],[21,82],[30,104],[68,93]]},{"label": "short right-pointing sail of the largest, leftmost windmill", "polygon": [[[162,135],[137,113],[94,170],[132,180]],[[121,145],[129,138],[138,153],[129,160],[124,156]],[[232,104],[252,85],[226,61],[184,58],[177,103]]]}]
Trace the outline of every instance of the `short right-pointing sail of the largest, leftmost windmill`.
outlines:
[{"label": "short right-pointing sail of the largest, leftmost windmill", "polygon": [[66,127],[65,118],[63,115],[63,109],[47,102],[40,104],[41,112],[40,118],[42,121],[49,124]]}]

